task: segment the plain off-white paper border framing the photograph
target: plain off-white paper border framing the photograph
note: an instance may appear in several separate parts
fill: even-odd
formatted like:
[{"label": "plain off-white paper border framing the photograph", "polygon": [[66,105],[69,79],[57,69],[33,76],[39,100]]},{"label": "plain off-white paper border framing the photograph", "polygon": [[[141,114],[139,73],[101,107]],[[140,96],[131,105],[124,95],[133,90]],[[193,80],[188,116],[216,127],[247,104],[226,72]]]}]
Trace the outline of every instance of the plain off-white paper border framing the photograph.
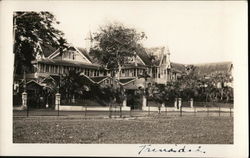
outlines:
[{"label": "plain off-white paper border framing the photograph", "polygon": [[[13,144],[12,143],[12,13],[17,10],[53,10],[54,7],[66,7],[72,3],[155,3],[153,1],[1,1],[0,2],[0,155],[8,156],[161,156],[161,157],[247,157],[248,156],[248,30],[247,2],[186,2],[186,3],[231,3],[232,7],[240,6],[242,14],[236,22],[234,32],[234,144],[233,145],[202,145],[206,154],[201,153],[153,153],[138,155],[140,144]],[[158,1],[156,3],[165,3]],[[179,3],[184,2],[168,2]],[[78,17],[77,17],[78,18]],[[200,144],[199,144],[200,145]],[[162,145],[159,145],[162,146]],[[188,145],[197,147],[197,145]],[[164,145],[165,148],[173,145]]]}]

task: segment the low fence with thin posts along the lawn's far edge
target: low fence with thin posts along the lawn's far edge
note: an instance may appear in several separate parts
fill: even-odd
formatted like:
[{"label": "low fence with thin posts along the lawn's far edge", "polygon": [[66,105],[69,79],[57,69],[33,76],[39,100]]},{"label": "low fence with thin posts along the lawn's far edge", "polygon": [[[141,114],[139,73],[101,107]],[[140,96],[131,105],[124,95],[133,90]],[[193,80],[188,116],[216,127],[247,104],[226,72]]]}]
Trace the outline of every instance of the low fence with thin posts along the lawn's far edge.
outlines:
[{"label": "low fence with thin posts along the lawn's far edge", "polygon": [[123,110],[122,107],[109,107],[103,110],[91,109],[88,107],[78,111],[60,111],[54,109],[30,109],[14,110],[14,117],[30,116],[73,116],[85,118],[128,118],[128,117],[148,117],[157,115],[167,115],[169,117],[182,116],[230,116],[233,117],[234,110],[229,107],[149,107],[148,110]]}]

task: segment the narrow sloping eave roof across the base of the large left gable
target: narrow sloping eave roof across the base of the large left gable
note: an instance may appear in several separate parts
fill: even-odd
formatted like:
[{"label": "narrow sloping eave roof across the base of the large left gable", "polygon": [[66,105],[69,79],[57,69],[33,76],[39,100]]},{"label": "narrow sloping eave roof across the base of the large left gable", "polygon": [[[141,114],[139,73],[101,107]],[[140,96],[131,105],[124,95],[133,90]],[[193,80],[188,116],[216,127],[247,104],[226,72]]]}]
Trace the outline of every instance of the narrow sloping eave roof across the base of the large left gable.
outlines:
[{"label": "narrow sloping eave roof across the base of the large left gable", "polygon": [[61,59],[41,59],[41,60],[37,60],[34,62],[46,63],[46,64],[51,64],[51,65],[83,67],[83,68],[99,68],[100,67],[100,65],[97,65],[97,64],[89,64],[89,63],[82,63],[78,61],[61,60]]}]

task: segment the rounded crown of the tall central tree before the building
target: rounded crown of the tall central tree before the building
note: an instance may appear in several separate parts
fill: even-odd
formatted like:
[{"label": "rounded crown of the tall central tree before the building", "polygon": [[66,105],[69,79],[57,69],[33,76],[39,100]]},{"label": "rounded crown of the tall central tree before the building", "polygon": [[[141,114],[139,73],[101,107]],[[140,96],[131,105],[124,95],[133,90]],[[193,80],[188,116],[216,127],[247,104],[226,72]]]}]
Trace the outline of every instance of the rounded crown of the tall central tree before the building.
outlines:
[{"label": "rounded crown of the tall central tree before the building", "polygon": [[90,53],[111,70],[113,77],[116,74],[119,80],[122,66],[130,57],[136,55],[135,51],[142,47],[140,42],[144,38],[144,32],[138,33],[120,23],[110,23],[100,27],[99,32],[94,34],[95,45],[90,49]]}]

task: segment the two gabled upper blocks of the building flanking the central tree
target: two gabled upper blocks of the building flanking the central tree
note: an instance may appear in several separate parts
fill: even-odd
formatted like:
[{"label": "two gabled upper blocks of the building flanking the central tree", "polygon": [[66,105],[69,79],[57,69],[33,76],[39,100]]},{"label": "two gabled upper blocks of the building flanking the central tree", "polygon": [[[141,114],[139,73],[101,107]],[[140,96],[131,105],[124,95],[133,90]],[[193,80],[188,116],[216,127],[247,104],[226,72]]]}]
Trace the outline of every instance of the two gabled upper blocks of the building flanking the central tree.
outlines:
[{"label": "two gabled upper blocks of the building flanking the central tree", "polygon": [[[43,56],[37,56],[32,63],[34,70],[28,75],[38,81],[49,76],[65,74],[70,70],[81,71],[91,80],[111,76],[111,71],[104,68],[86,49],[74,46],[62,53],[59,49],[49,46],[43,48]],[[136,56],[123,65],[119,82],[125,88],[127,84],[143,87],[145,79],[141,76],[147,72],[148,82],[166,84],[176,80],[183,71],[185,71],[184,65],[170,62],[170,52],[167,47],[143,49],[137,51]],[[131,88],[131,85],[127,85],[127,88],[129,87]]]}]

